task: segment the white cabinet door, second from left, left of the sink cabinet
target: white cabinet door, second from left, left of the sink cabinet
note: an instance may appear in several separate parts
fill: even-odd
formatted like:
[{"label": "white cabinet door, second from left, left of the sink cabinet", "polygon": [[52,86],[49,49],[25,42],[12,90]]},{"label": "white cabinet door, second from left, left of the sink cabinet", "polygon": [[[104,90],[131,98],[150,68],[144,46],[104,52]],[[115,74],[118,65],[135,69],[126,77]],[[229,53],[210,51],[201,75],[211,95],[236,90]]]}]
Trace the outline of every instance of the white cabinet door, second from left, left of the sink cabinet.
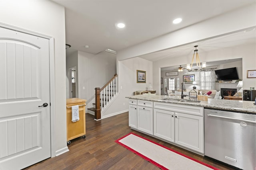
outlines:
[{"label": "white cabinet door, second from left, left of the sink cabinet", "polygon": [[153,108],[137,106],[137,129],[153,135]]}]

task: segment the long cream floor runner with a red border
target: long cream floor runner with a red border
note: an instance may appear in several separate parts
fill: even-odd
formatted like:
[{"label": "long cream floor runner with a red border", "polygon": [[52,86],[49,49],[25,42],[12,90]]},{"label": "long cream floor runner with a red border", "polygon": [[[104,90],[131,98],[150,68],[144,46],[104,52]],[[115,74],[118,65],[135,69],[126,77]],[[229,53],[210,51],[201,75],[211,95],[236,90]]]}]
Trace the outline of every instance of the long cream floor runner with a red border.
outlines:
[{"label": "long cream floor runner with a red border", "polygon": [[219,170],[134,133],[115,142],[163,170]]}]

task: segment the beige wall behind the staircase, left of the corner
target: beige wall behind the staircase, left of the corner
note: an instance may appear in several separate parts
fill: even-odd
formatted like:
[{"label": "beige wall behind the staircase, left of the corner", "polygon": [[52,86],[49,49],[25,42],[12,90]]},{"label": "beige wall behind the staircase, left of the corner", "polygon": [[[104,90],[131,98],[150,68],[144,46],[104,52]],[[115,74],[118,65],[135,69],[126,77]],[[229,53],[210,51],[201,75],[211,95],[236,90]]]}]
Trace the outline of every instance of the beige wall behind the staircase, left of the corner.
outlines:
[{"label": "beige wall behind the staircase, left of the corner", "polygon": [[[102,88],[116,74],[116,55],[102,51],[96,55],[78,51],[78,98],[95,102],[95,88]],[[83,89],[84,87],[84,89]]]}]

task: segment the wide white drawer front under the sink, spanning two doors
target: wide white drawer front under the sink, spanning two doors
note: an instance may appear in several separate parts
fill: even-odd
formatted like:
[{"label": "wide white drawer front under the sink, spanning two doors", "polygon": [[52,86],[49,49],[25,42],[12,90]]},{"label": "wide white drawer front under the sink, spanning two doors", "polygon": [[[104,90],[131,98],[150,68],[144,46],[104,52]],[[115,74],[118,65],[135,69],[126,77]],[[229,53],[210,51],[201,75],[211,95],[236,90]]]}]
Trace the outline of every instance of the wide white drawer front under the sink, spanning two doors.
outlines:
[{"label": "wide white drawer front under the sink, spanning two doors", "polygon": [[189,106],[189,105],[182,105],[182,104],[169,104],[164,102],[154,102],[154,108],[187,113],[190,115],[199,115],[199,116],[203,116],[203,113],[204,113],[204,107]]}]

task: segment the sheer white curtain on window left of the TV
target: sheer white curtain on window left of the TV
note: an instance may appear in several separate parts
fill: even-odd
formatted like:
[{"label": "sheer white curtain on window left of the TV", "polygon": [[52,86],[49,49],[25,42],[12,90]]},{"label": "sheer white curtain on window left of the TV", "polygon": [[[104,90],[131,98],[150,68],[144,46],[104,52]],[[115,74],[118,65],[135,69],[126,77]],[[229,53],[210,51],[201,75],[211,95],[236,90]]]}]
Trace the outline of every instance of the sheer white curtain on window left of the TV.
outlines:
[{"label": "sheer white curtain on window left of the TV", "polygon": [[215,89],[215,71],[213,69],[207,71],[200,71],[199,81],[202,90]]}]

